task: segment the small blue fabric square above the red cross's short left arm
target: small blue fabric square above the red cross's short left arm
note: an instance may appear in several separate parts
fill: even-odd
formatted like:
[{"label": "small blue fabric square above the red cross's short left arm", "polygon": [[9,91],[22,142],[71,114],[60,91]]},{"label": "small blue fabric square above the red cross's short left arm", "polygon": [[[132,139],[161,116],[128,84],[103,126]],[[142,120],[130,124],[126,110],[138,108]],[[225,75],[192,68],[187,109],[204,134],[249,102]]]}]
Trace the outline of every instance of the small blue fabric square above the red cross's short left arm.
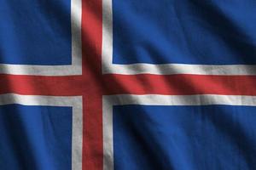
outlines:
[{"label": "small blue fabric square above the red cross's short left arm", "polygon": [[0,20],[0,64],[71,64],[71,0],[1,0]]}]

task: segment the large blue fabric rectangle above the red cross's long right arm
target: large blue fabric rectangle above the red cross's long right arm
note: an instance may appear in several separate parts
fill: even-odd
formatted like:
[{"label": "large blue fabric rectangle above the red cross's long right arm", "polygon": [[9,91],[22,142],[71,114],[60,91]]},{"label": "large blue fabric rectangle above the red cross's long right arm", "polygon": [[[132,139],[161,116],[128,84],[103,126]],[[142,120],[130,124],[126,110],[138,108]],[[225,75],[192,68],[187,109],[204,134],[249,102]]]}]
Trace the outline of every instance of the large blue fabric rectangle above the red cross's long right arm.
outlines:
[{"label": "large blue fabric rectangle above the red cross's long right arm", "polygon": [[253,0],[113,0],[114,64],[256,64]]}]

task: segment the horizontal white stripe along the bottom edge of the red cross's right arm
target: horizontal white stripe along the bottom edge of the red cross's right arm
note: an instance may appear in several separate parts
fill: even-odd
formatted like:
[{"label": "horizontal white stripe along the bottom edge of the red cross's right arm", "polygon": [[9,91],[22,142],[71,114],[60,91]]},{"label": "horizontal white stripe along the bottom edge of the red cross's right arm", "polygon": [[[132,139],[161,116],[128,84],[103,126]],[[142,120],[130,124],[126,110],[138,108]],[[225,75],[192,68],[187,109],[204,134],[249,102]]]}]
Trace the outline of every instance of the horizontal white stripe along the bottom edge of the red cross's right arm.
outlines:
[{"label": "horizontal white stripe along the bottom edge of the red cross's right arm", "polygon": [[241,95],[110,95],[111,105],[256,105],[256,96]]}]

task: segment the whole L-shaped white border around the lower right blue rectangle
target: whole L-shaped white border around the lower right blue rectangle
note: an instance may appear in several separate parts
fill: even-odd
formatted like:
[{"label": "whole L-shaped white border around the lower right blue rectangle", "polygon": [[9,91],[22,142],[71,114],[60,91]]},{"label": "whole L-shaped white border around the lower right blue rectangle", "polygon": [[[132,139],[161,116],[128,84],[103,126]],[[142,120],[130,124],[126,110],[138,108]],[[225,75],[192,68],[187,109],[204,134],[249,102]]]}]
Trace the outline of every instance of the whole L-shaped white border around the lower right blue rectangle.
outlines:
[{"label": "whole L-shaped white border around the lower right blue rectangle", "polygon": [[109,95],[103,97],[103,169],[113,170],[113,105],[245,105],[256,96],[238,95]]}]

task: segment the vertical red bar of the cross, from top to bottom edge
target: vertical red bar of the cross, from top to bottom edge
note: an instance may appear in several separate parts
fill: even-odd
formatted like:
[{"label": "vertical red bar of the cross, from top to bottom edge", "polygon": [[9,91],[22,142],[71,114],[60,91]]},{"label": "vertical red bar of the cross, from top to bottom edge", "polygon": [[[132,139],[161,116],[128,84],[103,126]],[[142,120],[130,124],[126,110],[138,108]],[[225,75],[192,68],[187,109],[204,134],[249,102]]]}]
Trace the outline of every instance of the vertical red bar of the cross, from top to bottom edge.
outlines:
[{"label": "vertical red bar of the cross, from top to bottom edge", "polygon": [[83,169],[102,170],[102,0],[83,0]]}]

